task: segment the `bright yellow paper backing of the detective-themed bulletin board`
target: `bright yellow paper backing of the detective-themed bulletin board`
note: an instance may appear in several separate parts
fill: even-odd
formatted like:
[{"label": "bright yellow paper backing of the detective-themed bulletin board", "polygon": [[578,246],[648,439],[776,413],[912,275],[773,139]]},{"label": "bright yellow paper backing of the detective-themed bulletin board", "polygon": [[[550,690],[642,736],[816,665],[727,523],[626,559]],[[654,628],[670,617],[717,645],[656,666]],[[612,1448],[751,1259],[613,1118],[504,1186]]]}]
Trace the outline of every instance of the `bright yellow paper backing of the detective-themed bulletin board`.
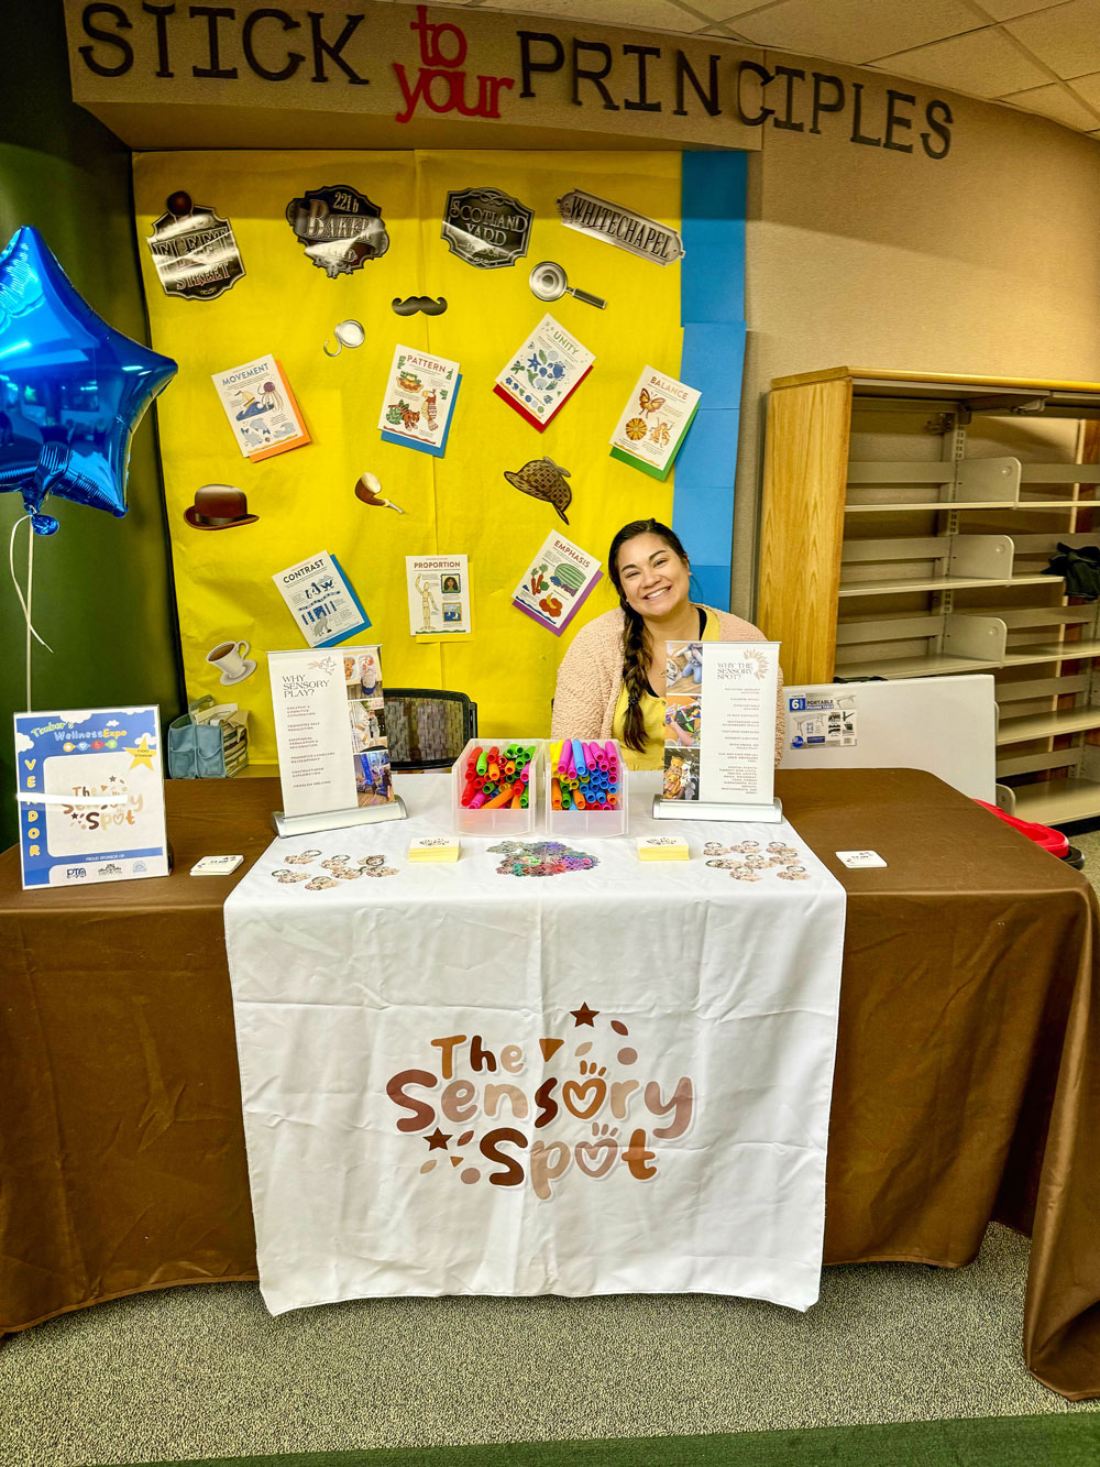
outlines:
[{"label": "bright yellow paper backing of the detective-themed bulletin board", "polygon": [[[179,362],[157,403],[188,695],[217,691],[207,653],[233,637],[251,643],[257,673],[235,689],[252,714],[252,760],[271,761],[274,731],[267,647],[286,643],[286,610],[271,581],[317,544],[334,555],[384,647],[390,687],[469,694],[483,726],[543,731],[568,643],[615,591],[607,578],[553,637],[510,604],[529,557],[560,519],[550,503],[513,489],[505,469],[547,456],[569,471],[568,534],[606,555],[629,519],[672,518],[672,478],[659,484],[607,455],[622,403],[645,362],[676,376],[681,362],[681,266],[656,266],[565,229],[556,201],[582,188],[681,227],[681,158],[673,153],[166,153],[133,163],[138,236],[179,189],[233,226],[246,274],[214,301],[164,295],[141,244],[153,346]],[[308,189],[348,183],[381,210],[390,245],[378,260],[329,279],[304,254],[286,205]],[[497,188],[534,211],[527,255],[480,270],[440,238],[447,192]],[[493,395],[505,356],[547,307],[529,290],[531,267],[556,260],[569,285],[607,301],[597,310],[566,295],[550,308],[595,355],[584,384],[544,433]],[[447,301],[434,317],[397,315],[411,295]],[[365,343],[326,356],[337,321],[353,318]],[[397,342],[462,364],[441,459],[381,442],[375,427]],[[242,461],[226,430],[211,374],[270,352],[283,365],[312,443],[260,464]],[[405,511],[355,497],[370,469]],[[251,525],[195,531],[183,511],[204,484],[248,496]],[[469,556],[475,640],[417,645],[409,635],[405,557],[461,547]]]}]

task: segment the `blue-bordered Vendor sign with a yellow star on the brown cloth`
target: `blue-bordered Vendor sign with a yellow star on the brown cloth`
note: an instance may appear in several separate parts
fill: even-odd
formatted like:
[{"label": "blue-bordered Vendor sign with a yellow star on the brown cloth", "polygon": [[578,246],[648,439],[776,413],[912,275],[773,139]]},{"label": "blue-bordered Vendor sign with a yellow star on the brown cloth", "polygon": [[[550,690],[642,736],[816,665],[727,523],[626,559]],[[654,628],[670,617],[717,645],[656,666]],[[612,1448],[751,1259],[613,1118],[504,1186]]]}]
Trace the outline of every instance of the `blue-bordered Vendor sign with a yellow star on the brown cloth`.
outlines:
[{"label": "blue-bordered Vendor sign with a yellow star on the brown cloth", "polygon": [[23,889],[167,876],[155,707],[15,714]]}]

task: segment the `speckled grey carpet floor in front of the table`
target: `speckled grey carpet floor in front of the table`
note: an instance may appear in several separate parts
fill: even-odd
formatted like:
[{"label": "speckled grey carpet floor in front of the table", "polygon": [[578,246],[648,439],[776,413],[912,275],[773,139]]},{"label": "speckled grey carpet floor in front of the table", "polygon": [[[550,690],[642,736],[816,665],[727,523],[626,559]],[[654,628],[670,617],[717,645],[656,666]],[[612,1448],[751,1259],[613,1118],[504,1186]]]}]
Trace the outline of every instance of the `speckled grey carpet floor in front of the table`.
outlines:
[{"label": "speckled grey carpet floor in front of the table", "polygon": [[0,1348],[3,1467],[562,1442],[1100,1411],[1024,1369],[1027,1240],[967,1269],[824,1270],[805,1314],[711,1295],[141,1294]]}]

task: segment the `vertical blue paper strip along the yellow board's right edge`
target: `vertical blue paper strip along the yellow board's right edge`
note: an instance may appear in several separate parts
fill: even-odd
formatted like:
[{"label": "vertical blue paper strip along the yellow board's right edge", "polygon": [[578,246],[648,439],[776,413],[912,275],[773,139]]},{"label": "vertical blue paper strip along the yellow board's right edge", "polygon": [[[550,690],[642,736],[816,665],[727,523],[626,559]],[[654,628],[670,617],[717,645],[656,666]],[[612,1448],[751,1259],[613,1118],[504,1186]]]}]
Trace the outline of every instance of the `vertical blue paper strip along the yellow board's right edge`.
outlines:
[{"label": "vertical blue paper strip along the yellow board's right edge", "polygon": [[700,600],[722,610],[729,610],[745,368],[747,186],[747,153],[681,156],[681,380],[703,398],[676,461],[672,528]]}]

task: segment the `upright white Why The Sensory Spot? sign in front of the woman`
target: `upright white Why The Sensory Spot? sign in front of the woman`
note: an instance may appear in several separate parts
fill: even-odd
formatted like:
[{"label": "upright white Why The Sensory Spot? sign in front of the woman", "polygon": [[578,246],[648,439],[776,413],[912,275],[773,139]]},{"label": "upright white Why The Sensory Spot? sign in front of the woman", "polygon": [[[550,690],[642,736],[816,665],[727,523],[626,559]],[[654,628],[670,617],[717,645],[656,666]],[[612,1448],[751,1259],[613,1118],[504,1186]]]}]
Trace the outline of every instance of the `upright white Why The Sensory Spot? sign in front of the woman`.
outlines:
[{"label": "upright white Why The Sensory Spot? sign in front of the woman", "polygon": [[654,819],[777,824],[779,643],[667,647],[664,788],[679,780],[686,794],[656,795]]}]

